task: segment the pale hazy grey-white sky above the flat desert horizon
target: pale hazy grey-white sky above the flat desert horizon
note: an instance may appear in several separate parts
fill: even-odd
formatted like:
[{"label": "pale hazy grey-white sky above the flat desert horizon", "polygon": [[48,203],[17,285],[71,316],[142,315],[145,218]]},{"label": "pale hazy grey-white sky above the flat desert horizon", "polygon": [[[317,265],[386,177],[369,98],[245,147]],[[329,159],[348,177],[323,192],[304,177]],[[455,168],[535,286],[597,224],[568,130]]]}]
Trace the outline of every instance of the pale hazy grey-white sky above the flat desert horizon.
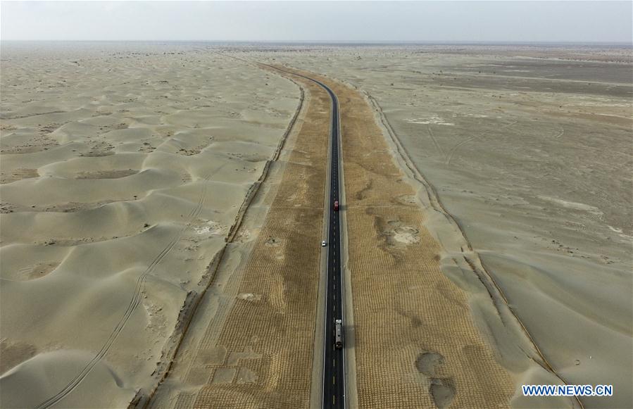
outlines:
[{"label": "pale hazy grey-white sky above the flat desert horizon", "polygon": [[1,39],[628,42],[631,1],[2,1]]}]

